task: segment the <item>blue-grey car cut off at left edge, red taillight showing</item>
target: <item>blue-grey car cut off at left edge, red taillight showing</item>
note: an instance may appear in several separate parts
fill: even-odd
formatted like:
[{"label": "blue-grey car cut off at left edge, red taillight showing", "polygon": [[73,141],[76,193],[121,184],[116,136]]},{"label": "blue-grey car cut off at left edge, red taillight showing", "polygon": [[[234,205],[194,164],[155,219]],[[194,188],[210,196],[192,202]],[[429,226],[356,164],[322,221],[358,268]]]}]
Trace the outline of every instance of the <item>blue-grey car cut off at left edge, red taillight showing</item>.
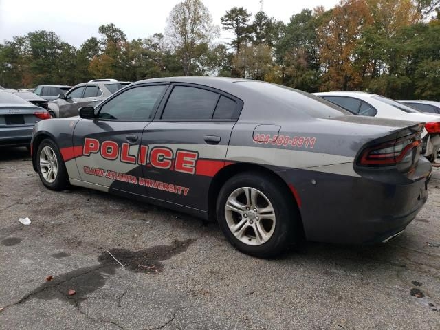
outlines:
[{"label": "blue-grey car cut off at left edge, red taillight showing", "polygon": [[49,118],[45,109],[0,90],[0,147],[29,147],[34,125]]}]

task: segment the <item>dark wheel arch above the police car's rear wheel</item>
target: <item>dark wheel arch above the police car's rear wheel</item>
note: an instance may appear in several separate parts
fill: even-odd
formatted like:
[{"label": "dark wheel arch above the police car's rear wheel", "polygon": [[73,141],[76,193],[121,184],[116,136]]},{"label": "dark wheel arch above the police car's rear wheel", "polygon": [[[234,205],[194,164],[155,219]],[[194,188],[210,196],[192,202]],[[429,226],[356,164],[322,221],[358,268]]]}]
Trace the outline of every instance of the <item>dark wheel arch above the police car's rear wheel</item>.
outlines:
[{"label": "dark wheel arch above the police car's rear wheel", "polygon": [[237,175],[239,173],[245,173],[245,172],[259,172],[264,175],[272,177],[272,179],[276,180],[278,184],[280,184],[281,189],[284,190],[285,194],[289,196],[289,198],[292,200],[292,203],[294,203],[294,206],[296,208],[296,211],[299,214],[299,224],[300,224],[300,230],[301,234],[304,236],[304,228],[303,228],[303,219],[301,217],[300,208],[298,207],[298,201],[296,200],[296,197],[294,195],[294,192],[292,192],[291,188],[289,188],[289,185],[284,181],[284,179],[278,175],[273,170],[270,170],[270,168],[267,168],[265,166],[261,166],[258,164],[249,164],[249,163],[235,163],[230,164],[228,166],[223,167],[219,172],[212,178],[209,190],[208,190],[208,219],[210,221],[215,221],[215,209],[216,209],[216,201],[217,197],[219,195],[219,192],[221,190],[221,187],[227,181],[230,177]]}]

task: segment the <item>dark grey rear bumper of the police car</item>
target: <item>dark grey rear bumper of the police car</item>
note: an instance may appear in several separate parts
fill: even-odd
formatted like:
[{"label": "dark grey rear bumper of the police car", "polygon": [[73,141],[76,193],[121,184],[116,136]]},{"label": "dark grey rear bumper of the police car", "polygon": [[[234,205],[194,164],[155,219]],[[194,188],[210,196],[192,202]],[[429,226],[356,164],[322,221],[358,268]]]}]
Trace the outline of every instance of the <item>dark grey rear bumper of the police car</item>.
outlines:
[{"label": "dark grey rear bumper of the police car", "polygon": [[423,175],[405,184],[310,170],[279,174],[295,186],[301,199],[307,240],[368,244],[404,230],[426,203],[431,167],[424,158],[419,167]]}]

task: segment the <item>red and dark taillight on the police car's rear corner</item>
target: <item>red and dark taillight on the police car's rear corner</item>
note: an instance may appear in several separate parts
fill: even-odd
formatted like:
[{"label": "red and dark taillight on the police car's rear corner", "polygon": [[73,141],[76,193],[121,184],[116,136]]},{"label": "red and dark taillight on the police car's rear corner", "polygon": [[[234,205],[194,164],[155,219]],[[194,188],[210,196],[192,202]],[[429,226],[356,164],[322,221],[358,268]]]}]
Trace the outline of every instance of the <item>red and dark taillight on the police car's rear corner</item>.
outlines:
[{"label": "red and dark taillight on the police car's rear corner", "polygon": [[362,152],[358,164],[362,166],[391,166],[399,164],[406,157],[410,157],[412,161],[414,160],[412,152],[417,152],[419,146],[421,146],[420,134],[370,146]]}]

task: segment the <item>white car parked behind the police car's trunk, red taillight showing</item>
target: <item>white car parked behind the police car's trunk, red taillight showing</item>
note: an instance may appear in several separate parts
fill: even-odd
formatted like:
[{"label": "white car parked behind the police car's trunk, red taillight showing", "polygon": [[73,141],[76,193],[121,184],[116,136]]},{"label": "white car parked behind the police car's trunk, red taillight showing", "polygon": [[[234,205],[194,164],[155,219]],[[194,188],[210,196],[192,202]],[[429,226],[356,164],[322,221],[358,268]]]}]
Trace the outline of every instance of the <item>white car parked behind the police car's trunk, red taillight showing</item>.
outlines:
[{"label": "white car parked behind the police car's trunk, red taillight showing", "polygon": [[432,162],[437,159],[440,149],[440,115],[421,113],[391,98],[362,91],[328,91],[314,94],[355,115],[425,122],[428,134],[423,137],[423,155]]}]

